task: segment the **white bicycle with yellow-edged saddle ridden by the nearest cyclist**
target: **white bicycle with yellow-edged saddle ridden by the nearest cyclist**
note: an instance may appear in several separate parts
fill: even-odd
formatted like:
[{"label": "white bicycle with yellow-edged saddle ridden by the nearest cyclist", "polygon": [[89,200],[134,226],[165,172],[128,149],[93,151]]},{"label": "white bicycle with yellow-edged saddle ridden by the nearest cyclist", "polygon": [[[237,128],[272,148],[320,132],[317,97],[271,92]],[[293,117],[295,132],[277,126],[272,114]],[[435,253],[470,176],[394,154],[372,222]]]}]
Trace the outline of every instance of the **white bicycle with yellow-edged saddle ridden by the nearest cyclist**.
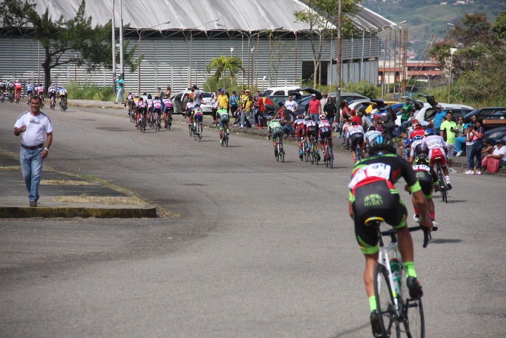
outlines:
[{"label": "white bicycle with yellow-edged saddle ridden by the nearest cyclist", "polygon": [[[378,260],[374,268],[374,295],[376,296],[382,336],[390,337],[391,331],[394,329],[397,337],[400,337],[403,332],[409,338],[423,338],[425,336],[425,317],[421,298],[409,298],[397,235],[394,229],[381,231],[379,227],[384,222],[385,220],[380,217],[371,217],[365,221],[366,226],[376,229],[379,241]],[[424,226],[408,229],[410,232],[424,230],[423,247],[427,247],[429,231]],[[383,236],[391,238],[391,243],[386,247]]]}]

